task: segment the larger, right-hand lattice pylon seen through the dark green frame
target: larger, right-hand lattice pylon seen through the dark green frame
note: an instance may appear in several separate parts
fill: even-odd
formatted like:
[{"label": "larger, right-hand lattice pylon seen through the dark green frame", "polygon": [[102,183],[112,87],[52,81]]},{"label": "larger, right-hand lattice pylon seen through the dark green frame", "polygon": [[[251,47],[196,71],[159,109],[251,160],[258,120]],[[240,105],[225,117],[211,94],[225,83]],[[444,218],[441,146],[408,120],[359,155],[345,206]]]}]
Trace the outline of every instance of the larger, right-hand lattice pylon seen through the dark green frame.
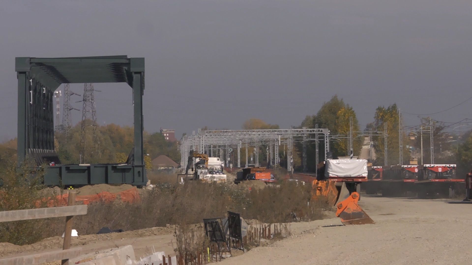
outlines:
[{"label": "larger, right-hand lattice pylon seen through the dark green frame", "polygon": [[[95,110],[95,96],[93,95],[93,83],[84,83],[84,96],[82,98],[82,123],[80,126],[80,147],[82,160],[85,162],[86,150],[91,149],[92,152],[98,150],[97,141],[97,116]],[[80,102],[80,101],[78,101]],[[91,128],[91,130],[88,130]],[[87,134],[92,134],[92,142],[87,141]]]}]

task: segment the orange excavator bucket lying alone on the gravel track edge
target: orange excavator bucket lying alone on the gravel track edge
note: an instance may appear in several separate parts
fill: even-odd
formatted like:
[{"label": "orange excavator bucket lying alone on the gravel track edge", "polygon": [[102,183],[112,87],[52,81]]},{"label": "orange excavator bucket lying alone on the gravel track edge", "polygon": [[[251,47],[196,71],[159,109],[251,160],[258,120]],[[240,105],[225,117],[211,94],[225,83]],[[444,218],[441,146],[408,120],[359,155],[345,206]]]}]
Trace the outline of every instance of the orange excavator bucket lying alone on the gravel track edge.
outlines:
[{"label": "orange excavator bucket lying alone on the gravel track edge", "polygon": [[375,224],[357,204],[359,193],[353,192],[347,199],[337,204],[336,216],[341,218],[343,224]]}]

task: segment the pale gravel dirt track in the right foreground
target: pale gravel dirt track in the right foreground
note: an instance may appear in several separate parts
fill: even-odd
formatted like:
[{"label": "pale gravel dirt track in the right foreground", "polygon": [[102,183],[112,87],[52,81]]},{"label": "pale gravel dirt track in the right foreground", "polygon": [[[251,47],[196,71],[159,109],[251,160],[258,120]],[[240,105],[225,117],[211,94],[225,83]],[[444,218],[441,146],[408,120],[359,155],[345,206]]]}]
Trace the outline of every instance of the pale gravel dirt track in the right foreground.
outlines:
[{"label": "pale gravel dirt track in the right foreground", "polygon": [[472,204],[363,196],[361,206],[376,224],[292,224],[293,237],[221,265],[470,264]]}]

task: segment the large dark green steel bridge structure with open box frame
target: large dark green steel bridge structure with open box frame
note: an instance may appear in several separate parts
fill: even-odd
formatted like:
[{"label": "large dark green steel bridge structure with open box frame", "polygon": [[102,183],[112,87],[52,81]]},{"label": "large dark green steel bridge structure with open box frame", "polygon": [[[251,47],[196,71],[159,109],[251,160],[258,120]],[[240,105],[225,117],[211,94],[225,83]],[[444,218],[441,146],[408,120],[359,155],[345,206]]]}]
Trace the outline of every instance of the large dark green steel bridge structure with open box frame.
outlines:
[{"label": "large dark green steel bridge structure with open box frame", "polygon": [[[144,58],[127,56],[17,57],[18,166],[27,157],[50,164],[45,185],[147,182],[143,159]],[[54,149],[54,91],[62,83],[127,83],[133,89],[134,148],[126,164],[62,165]]]}]

